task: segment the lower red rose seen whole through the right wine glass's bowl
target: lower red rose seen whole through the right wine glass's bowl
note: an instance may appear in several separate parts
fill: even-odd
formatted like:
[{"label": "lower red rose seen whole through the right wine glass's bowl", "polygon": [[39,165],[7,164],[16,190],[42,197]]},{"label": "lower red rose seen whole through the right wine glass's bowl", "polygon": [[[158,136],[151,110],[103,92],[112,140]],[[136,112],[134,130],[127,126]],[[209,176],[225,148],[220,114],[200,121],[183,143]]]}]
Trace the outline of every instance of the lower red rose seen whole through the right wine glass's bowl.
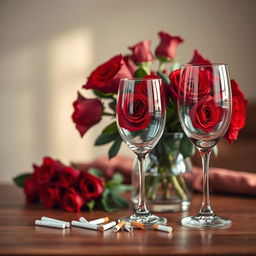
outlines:
[{"label": "lower red rose seen whole through the right wine glass's bowl", "polygon": [[216,105],[214,98],[209,96],[197,102],[190,109],[190,117],[195,128],[204,132],[212,132],[222,121],[223,108]]}]

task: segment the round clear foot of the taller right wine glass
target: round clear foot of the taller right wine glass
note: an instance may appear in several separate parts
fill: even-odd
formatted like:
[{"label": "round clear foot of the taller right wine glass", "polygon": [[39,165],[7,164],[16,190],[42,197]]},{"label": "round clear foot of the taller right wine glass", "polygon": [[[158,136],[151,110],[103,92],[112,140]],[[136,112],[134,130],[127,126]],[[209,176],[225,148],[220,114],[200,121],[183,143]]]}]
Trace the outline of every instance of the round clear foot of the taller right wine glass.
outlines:
[{"label": "round clear foot of the taller right wine glass", "polygon": [[223,219],[217,215],[210,216],[189,216],[181,220],[181,224],[189,228],[218,228],[228,227],[232,223],[229,219]]}]

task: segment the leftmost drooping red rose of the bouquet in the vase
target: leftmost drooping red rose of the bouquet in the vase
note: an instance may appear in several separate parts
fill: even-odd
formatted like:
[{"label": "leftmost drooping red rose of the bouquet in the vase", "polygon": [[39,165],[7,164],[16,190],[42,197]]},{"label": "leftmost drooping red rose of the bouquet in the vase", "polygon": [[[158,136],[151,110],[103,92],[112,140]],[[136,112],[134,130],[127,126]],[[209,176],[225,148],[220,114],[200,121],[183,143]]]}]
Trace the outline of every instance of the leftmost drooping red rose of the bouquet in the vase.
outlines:
[{"label": "leftmost drooping red rose of the bouquet in the vase", "polygon": [[100,100],[86,99],[79,92],[73,106],[74,112],[72,119],[82,137],[89,128],[101,120],[103,107]]}]

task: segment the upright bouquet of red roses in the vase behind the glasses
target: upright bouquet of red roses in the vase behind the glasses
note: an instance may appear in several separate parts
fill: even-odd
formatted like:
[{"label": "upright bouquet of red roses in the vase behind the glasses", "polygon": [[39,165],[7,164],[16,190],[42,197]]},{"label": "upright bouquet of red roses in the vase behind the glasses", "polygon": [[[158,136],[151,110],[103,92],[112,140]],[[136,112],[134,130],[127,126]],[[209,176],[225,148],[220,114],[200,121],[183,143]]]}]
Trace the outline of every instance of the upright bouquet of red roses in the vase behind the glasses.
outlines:
[{"label": "upright bouquet of red roses in the vase behind the glasses", "polygon": [[[162,78],[167,86],[166,127],[164,133],[182,132],[177,113],[177,93],[179,89],[180,69],[174,61],[177,46],[183,42],[179,36],[171,36],[166,32],[159,32],[160,42],[151,52],[151,41],[142,41],[129,47],[130,54],[117,55],[98,66],[83,85],[84,89],[92,90],[95,98],[87,99],[78,92],[73,103],[73,122],[83,137],[88,129],[99,123],[104,116],[112,117],[112,122],[102,131],[95,141],[95,145],[112,143],[109,158],[114,157],[120,148],[122,139],[118,133],[115,121],[116,94],[120,78],[151,76]],[[158,70],[152,70],[152,63],[158,61]],[[197,50],[188,63],[211,64]],[[245,125],[247,100],[235,80],[231,80],[233,96],[233,112],[231,123],[225,137],[231,143],[238,138],[239,130]],[[186,136],[183,137],[180,152],[184,158],[194,154],[194,147]]]}]

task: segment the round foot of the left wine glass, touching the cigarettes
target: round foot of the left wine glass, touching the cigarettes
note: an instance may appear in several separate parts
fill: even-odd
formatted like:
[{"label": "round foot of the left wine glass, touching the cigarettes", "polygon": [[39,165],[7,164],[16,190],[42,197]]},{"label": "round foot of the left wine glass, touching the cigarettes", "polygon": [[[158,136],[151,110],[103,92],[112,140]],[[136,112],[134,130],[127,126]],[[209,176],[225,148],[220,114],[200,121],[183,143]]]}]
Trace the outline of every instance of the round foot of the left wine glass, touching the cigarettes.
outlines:
[{"label": "round foot of the left wine glass, touching the cigarettes", "polygon": [[147,215],[142,215],[140,216],[139,214],[133,214],[128,217],[122,217],[119,219],[119,221],[124,220],[125,222],[132,222],[136,221],[139,223],[143,223],[146,226],[152,226],[154,224],[163,224],[165,225],[167,223],[167,219],[164,217],[159,217],[154,214],[147,214]]}]

